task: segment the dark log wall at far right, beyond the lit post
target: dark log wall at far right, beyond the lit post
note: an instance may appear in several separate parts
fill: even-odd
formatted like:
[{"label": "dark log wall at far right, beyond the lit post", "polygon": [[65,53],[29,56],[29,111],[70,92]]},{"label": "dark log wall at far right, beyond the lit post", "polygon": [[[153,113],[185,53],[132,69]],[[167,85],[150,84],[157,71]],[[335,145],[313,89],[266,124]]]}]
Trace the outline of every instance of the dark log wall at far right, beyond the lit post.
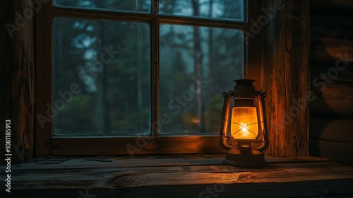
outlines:
[{"label": "dark log wall at far right, beyond the lit post", "polygon": [[313,0],[309,155],[353,163],[353,1]]}]

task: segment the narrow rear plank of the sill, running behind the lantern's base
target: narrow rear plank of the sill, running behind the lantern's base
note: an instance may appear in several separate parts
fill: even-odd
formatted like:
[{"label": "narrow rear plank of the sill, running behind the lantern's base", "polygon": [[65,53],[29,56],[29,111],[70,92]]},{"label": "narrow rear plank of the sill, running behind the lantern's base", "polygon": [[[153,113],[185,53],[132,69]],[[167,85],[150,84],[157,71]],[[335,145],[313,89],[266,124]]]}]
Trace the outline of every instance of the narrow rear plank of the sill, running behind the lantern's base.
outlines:
[{"label": "narrow rear plank of the sill, running behind the lantern's base", "polygon": [[[83,169],[83,168],[142,168],[142,167],[172,167],[172,166],[193,166],[193,165],[220,165],[225,155],[215,155],[215,157],[195,157],[195,155],[184,155],[177,158],[167,156],[148,158],[130,158],[129,156],[114,157],[95,157],[95,158],[64,158],[64,157],[40,157],[35,158],[28,163],[13,165],[14,170],[54,170],[54,169]],[[156,163],[157,161],[157,163]],[[278,163],[311,163],[328,161],[325,158],[315,157],[293,157],[293,158],[275,158],[266,156],[269,164]],[[1,167],[0,167],[1,168]],[[1,170],[1,169],[0,169]]]}]

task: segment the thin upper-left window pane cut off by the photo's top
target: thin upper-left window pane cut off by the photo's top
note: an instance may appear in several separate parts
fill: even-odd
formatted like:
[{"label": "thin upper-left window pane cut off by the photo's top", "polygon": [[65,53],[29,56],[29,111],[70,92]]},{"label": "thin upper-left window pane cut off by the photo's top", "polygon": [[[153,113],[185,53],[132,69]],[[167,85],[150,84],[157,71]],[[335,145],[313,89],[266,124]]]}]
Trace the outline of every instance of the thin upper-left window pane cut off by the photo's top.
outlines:
[{"label": "thin upper-left window pane cut off by the photo's top", "polygon": [[54,6],[150,13],[151,0],[54,0]]}]

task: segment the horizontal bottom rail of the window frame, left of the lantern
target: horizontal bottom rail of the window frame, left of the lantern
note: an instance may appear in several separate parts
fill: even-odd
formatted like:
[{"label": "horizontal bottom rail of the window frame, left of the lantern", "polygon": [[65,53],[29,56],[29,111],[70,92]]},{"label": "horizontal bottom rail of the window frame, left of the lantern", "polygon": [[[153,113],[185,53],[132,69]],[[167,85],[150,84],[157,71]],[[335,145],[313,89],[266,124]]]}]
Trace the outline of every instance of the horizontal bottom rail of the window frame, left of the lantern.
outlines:
[{"label": "horizontal bottom rail of the window frame, left of the lantern", "polygon": [[80,139],[55,137],[52,139],[52,155],[102,155],[104,153],[106,155],[135,156],[153,153],[225,153],[219,142],[219,136],[163,136],[147,139],[113,136]]}]

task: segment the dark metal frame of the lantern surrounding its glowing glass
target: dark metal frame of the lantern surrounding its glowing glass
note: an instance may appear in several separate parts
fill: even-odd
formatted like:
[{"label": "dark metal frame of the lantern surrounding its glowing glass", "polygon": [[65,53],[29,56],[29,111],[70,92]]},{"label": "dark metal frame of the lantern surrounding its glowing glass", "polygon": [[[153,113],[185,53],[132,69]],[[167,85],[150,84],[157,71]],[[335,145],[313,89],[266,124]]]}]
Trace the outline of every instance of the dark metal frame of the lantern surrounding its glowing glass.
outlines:
[{"label": "dark metal frame of the lantern surrounding its glowing glass", "polygon": [[[225,100],[220,129],[220,146],[227,150],[223,163],[236,166],[266,165],[265,154],[263,153],[268,148],[268,127],[264,102],[266,93],[255,90],[253,86],[255,80],[238,79],[234,81],[236,82],[234,90],[223,93]],[[230,107],[232,100],[234,101],[234,107],[256,107],[258,134],[255,140],[232,139],[232,132],[229,133],[229,127],[232,124],[230,123],[232,115],[229,112],[232,108]],[[254,105],[255,101],[258,103],[257,106]],[[253,103],[253,106],[251,103]],[[237,142],[237,144],[232,144],[232,142]]]}]

